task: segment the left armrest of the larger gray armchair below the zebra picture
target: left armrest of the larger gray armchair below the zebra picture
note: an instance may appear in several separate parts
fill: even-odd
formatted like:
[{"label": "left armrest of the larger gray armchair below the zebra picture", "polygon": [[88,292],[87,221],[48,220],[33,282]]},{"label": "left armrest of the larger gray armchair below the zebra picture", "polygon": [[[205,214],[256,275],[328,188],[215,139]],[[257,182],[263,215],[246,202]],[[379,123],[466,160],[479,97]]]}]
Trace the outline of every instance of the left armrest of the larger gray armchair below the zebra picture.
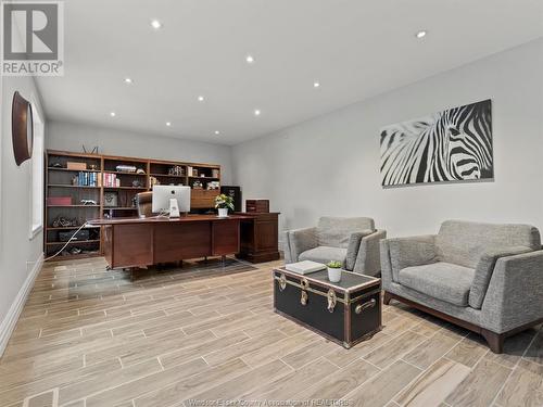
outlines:
[{"label": "left armrest of the larger gray armchair below the zebra picture", "polygon": [[400,270],[438,262],[435,234],[387,239],[392,281],[400,281]]}]

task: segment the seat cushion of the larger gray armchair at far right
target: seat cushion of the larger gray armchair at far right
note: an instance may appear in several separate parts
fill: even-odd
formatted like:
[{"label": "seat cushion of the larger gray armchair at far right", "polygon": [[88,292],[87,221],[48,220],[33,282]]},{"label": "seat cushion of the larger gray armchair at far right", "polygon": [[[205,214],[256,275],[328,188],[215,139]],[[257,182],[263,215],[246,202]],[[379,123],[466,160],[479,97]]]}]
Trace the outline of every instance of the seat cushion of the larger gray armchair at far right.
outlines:
[{"label": "seat cushion of the larger gray armchair at far right", "polygon": [[406,267],[400,271],[399,277],[402,285],[450,304],[466,307],[473,274],[472,268],[439,262]]}]

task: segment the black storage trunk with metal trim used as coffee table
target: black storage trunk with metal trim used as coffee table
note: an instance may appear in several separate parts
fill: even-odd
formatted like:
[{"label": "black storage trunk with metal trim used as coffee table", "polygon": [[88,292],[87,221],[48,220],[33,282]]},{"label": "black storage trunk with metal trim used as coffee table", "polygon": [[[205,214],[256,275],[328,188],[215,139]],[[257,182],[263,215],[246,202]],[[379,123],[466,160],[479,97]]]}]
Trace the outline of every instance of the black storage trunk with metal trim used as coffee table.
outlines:
[{"label": "black storage trunk with metal trim used as coffee table", "polygon": [[274,309],[345,348],[381,330],[381,280],[350,271],[340,282],[326,270],[299,275],[275,269]]}]

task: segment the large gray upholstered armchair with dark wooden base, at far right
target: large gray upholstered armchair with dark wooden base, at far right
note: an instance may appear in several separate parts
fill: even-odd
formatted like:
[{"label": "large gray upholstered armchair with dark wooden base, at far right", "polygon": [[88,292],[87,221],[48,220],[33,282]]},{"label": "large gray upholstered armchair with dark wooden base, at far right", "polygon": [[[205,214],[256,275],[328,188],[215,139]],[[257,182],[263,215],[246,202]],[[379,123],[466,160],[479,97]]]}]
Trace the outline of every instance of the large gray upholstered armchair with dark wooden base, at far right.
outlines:
[{"label": "large gray upholstered armchair with dark wooden base, at far right", "polygon": [[543,251],[532,226],[447,220],[437,236],[380,245],[386,304],[395,298],[480,333],[494,353],[543,320]]}]

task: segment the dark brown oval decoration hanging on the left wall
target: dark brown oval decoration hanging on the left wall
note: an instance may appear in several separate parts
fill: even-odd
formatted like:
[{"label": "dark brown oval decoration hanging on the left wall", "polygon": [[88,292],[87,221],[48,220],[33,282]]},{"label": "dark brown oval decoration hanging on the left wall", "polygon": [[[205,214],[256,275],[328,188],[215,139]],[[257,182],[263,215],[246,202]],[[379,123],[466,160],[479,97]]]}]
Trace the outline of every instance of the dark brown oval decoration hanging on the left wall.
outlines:
[{"label": "dark brown oval decoration hanging on the left wall", "polygon": [[11,106],[11,137],[15,163],[23,164],[33,155],[34,124],[30,102],[18,91],[13,93]]}]

